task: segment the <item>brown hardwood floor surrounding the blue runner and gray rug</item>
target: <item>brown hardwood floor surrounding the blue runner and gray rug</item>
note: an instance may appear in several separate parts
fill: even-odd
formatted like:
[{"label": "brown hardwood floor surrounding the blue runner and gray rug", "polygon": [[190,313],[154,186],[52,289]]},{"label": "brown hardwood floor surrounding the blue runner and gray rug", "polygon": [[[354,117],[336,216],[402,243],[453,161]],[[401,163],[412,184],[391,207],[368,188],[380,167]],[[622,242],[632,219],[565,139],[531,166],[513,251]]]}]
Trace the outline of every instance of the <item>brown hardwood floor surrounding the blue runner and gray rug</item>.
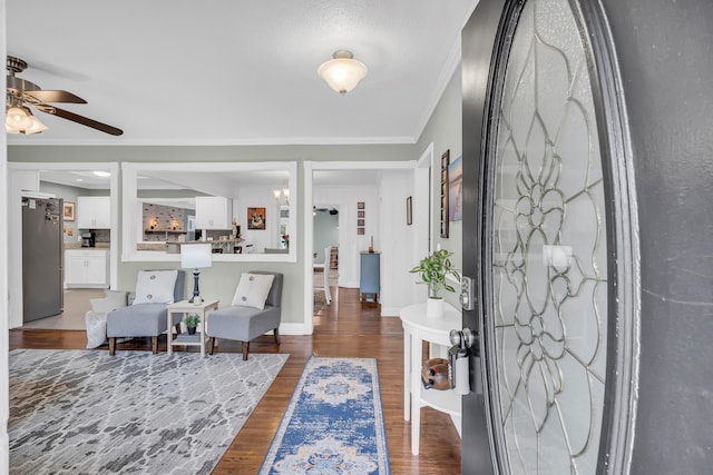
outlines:
[{"label": "brown hardwood floor surrounding the blue runner and gray rug", "polygon": [[[420,455],[411,455],[410,423],[403,420],[403,330],[395,317],[381,318],[373,303],[359,303],[358,289],[333,288],[333,300],[314,319],[311,336],[282,336],[277,347],[272,336],[251,343],[251,353],[287,353],[290,358],[260,402],[247,423],[214,469],[214,474],[255,474],[282,420],[282,414],[310,355],[375,357],[387,426],[391,472],[401,474],[460,473],[461,444],[450,417],[431,408],[421,409]],[[84,349],[85,331],[14,329],[10,349]],[[126,349],[150,350],[150,339],[117,345]],[[180,348],[177,348],[180,350]],[[101,347],[98,350],[107,350]],[[166,350],[162,339],[159,350]],[[185,348],[196,350],[196,348]],[[241,353],[238,342],[221,340],[217,352]],[[209,357],[209,356],[208,356]]]}]

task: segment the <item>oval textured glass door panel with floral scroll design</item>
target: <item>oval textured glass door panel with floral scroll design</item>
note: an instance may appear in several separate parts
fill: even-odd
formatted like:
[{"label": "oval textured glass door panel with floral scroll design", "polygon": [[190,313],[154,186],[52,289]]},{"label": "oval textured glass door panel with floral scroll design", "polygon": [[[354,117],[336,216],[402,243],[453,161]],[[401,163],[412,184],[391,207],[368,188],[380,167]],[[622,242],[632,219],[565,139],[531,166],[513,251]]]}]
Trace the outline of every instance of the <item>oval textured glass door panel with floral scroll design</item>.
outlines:
[{"label": "oval textured glass door panel with floral scroll design", "polygon": [[614,326],[629,305],[618,299],[627,278],[617,256],[631,260],[619,232],[632,224],[617,190],[626,189],[616,165],[624,154],[605,126],[622,128],[609,92],[615,71],[600,67],[611,49],[588,42],[592,21],[603,17],[574,0],[512,1],[504,16],[481,197],[496,466],[607,472],[602,461],[614,463],[622,448],[614,455],[621,466],[627,452],[629,428],[613,419],[627,420],[632,408],[631,378],[622,384],[616,374],[622,345],[631,348],[631,333]]}]

